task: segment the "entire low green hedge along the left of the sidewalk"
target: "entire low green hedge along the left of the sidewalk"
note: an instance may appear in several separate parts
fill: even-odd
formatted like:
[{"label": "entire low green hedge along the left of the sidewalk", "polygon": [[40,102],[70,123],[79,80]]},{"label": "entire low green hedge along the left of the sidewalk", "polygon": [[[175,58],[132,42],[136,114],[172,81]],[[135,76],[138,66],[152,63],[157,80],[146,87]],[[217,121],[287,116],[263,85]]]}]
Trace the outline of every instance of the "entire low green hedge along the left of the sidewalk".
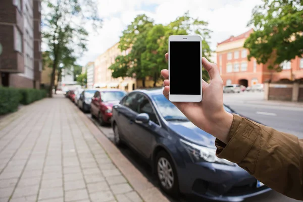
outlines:
[{"label": "entire low green hedge along the left of the sidewalk", "polygon": [[28,105],[44,97],[45,90],[0,87],[0,115],[16,111],[19,104]]}]

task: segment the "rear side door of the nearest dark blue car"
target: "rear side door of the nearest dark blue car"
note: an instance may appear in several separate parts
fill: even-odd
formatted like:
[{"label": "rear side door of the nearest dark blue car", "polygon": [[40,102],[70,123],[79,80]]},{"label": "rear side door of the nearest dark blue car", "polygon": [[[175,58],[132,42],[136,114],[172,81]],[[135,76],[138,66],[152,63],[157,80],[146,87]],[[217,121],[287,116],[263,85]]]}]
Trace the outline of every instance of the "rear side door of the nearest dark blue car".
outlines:
[{"label": "rear side door of the nearest dark blue car", "polygon": [[115,115],[115,120],[117,122],[117,126],[119,128],[120,133],[122,133],[125,141],[134,147],[131,133],[132,126],[134,122],[134,118],[137,115],[135,112],[137,105],[137,96],[139,94],[137,92],[132,92],[126,95],[120,105],[115,106],[115,110],[117,111],[117,115]]}]

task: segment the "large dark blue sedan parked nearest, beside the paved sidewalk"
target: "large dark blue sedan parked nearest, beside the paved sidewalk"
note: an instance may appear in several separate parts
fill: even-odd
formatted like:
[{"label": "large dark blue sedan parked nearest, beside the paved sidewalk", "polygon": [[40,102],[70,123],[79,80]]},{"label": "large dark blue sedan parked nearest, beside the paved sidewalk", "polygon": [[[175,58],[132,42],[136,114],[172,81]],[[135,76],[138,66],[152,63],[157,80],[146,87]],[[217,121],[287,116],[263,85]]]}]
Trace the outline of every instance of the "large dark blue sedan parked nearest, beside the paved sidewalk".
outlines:
[{"label": "large dark blue sedan parked nearest, beside the paved sidewalk", "polygon": [[126,143],[147,160],[169,194],[242,201],[271,190],[238,165],[217,158],[215,138],[188,121],[162,90],[127,94],[113,107],[112,127],[115,143]]}]

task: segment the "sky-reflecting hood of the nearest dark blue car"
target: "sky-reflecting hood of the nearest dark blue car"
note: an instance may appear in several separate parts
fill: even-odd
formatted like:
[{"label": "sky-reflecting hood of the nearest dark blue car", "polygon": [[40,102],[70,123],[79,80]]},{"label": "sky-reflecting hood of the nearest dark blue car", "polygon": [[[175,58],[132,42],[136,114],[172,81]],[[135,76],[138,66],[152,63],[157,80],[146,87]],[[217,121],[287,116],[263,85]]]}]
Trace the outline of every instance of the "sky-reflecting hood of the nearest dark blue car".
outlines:
[{"label": "sky-reflecting hood of the nearest dark blue car", "polygon": [[190,121],[188,122],[168,122],[168,127],[176,132],[178,135],[187,139],[188,141],[199,144],[201,146],[207,146],[216,148],[215,137],[211,134],[199,129]]}]

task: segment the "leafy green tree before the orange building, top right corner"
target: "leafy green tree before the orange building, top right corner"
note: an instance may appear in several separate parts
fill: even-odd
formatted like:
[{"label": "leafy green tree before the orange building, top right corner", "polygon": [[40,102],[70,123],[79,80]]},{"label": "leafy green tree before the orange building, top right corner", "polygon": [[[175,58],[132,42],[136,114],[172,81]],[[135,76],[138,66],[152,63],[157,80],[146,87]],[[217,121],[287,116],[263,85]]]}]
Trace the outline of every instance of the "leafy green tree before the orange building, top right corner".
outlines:
[{"label": "leafy green tree before the orange building, top right corner", "polygon": [[281,71],[282,62],[302,56],[302,0],[263,0],[252,10],[250,25],[254,32],[244,43],[248,60],[254,57],[258,64],[269,63],[269,69]]}]

